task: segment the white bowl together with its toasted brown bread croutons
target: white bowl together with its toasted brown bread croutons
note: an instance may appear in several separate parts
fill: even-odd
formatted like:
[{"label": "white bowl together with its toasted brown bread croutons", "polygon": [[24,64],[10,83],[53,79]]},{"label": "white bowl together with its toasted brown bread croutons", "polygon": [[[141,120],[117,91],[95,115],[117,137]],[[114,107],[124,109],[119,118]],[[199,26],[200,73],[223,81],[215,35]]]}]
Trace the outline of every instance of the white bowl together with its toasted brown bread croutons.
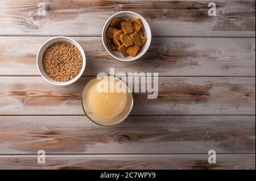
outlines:
[{"label": "white bowl together with its toasted brown bread croutons", "polygon": [[117,60],[134,61],[150,47],[150,26],[136,12],[117,12],[106,21],[102,42],[108,53]]}]

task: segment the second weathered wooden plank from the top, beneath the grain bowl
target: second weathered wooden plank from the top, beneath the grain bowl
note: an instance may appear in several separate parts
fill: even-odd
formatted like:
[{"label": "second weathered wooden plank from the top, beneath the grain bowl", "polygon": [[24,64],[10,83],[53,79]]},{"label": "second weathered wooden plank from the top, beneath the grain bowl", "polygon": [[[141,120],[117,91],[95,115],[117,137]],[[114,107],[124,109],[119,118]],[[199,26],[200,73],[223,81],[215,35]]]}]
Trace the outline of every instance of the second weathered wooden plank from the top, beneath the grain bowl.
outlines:
[{"label": "second weathered wooden plank from the top, beneath the grain bowl", "polygon": [[[49,37],[1,37],[0,75],[39,75],[36,54]],[[73,37],[86,53],[84,75],[158,72],[161,76],[255,76],[255,39],[155,37],[141,60],[114,60],[100,37]],[[91,43],[93,42],[93,44]]]}]

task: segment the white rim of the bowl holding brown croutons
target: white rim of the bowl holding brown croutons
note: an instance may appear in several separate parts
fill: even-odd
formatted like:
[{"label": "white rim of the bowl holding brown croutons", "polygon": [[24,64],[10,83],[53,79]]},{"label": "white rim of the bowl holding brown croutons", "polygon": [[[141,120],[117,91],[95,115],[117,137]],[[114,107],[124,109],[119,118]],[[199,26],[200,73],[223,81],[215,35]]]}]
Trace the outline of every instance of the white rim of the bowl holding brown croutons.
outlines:
[{"label": "white rim of the bowl holding brown croutons", "polygon": [[105,28],[106,28],[106,24],[108,24],[109,21],[110,21],[115,15],[122,14],[122,13],[124,13],[124,12],[129,12],[129,13],[131,13],[131,14],[135,14],[135,15],[139,16],[139,18],[144,19],[145,22],[146,22],[146,24],[147,24],[147,26],[148,26],[148,31],[150,32],[150,35],[152,36],[150,26],[149,26],[149,24],[147,23],[147,20],[146,20],[145,18],[143,18],[142,15],[138,14],[137,12],[133,12],[133,11],[120,11],[120,12],[117,12],[117,13],[113,14],[112,16],[110,16],[110,18],[109,18],[108,20],[106,20],[106,23],[104,24],[104,27],[103,27],[102,32],[101,32],[101,37],[102,37],[102,43],[103,43],[103,45],[104,45],[104,48],[106,49],[106,51],[107,51],[113,58],[115,58],[115,59],[117,59],[117,60],[124,61],[124,62],[130,62],[130,61],[135,61],[135,60],[141,58],[141,57],[147,52],[147,50],[148,50],[148,48],[150,47],[150,44],[151,44],[151,38],[150,38],[150,44],[149,44],[148,47],[146,48],[145,53],[143,53],[143,54],[141,54],[141,55],[138,55],[138,56],[132,58],[131,60],[123,60],[122,58],[118,58],[118,57],[114,56],[114,55],[108,50],[108,48],[106,47],[106,45],[105,45],[105,43],[104,43],[104,36],[105,36],[105,35],[104,35],[104,30],[105,30]]}]

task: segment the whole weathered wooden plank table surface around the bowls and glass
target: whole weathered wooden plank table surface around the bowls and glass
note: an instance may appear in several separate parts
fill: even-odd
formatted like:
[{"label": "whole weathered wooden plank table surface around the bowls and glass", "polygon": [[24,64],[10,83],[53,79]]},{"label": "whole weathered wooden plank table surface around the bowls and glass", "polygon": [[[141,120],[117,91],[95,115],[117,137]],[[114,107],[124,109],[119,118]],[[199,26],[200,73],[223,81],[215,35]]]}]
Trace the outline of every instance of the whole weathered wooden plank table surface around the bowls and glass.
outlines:
[{"label": "whole weathered wooden plank table surface around the bowls and glass", "polygon": [[[217,16],[209,2],[0,1],[0,169],[255,169],[255,0],[216,0]],[[138,61],[114,60],[101,42],[105,21],[124,10],[152,30]],[[87,59],[64,87],[36,68],[40,45],[60,35]],[[81,93],[109,68],[158,72],[159,96],[135,93],[131,116],[101,127],[84,115]]]}]

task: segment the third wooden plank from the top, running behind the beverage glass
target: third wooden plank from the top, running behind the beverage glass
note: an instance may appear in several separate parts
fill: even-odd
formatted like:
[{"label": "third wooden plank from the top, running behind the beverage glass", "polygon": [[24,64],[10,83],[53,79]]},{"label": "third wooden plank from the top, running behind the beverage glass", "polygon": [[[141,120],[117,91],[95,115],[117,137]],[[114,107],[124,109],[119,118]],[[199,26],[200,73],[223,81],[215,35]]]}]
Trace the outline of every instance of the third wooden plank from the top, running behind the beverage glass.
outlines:
[{"label": "third wooden plank from the top, running behind the beverage glass", "polygon": [[[55,86],[42,77],[0,77],[0,115],[84,115],[81,94],[92,78]],[[157,99],[133,94],[131,115],[255,114],[254,77],[159,77],[158,85]]]}]

